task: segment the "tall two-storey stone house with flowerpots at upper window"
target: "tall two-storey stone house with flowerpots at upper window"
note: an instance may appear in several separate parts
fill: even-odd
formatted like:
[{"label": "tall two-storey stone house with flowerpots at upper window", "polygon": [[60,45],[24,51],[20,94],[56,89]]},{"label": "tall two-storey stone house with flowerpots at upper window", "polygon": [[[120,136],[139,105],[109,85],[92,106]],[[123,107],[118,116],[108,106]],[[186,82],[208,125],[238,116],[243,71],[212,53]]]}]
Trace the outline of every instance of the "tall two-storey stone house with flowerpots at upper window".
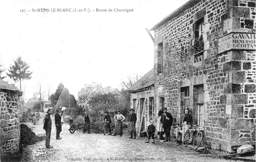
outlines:
[{"label": "tall two-storey stone house with flowerpots at upper window", "polygon": [[155,113],[189,106],[204,146],[255,145],[255,1],[190,0],[151,30]]}]

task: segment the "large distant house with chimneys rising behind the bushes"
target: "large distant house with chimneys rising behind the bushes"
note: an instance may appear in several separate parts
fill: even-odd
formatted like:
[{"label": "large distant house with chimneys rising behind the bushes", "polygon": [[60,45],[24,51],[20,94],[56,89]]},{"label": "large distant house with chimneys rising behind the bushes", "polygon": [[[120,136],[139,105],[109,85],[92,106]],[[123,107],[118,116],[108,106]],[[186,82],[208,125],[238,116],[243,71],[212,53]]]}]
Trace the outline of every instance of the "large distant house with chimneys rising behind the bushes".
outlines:
[{"label": "large distant house with chimneys rising behind the bushes", "polygon": [[121,95],[120,91],[117,88],[105,87],[102,88],[102,84],[97,84],[96,82],[92,82],[91,84],[84,84],[84,88],[78,92],[78,102],[77,105],[85,107],[88,106],[88,102],[91,97],[93,97],[97,93],[102,94],[117,94]]}]

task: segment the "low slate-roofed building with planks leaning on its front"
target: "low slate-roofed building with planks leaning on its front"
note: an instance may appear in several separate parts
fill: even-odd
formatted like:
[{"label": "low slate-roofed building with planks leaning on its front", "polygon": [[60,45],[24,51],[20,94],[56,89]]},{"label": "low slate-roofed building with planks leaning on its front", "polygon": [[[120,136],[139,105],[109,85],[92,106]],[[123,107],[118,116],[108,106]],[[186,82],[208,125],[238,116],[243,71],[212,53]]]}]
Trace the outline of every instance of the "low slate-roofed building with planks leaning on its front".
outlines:
[{"label": "low slate-roofed building with planks leaning on its front", "polygon": [[157,121],[154,110],[154,69],[145,74],[128,91],[131,95],[131,108],[137,114],[136,131],[147,132],[150,120]]}]

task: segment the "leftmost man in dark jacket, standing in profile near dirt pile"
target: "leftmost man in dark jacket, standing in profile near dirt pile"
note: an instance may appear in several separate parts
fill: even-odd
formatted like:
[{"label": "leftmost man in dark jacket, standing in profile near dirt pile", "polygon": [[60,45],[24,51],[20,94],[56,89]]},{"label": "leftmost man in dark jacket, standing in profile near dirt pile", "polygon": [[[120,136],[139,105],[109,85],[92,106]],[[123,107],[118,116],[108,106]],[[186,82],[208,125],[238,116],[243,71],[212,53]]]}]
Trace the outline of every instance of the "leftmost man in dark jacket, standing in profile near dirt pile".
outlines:
[{"label": "leftmost man in dark jacket, standing in profile near dirt pile", "polygon": [[48,109],[47,114],[45,115],[45,118],[44,118],[43,129],[45,130],[45,133],[46,133],[46,140],[45,140],[46,148],[53,147],[50,145],[50,138],[51,138],[51,117],[50,117],[50,115],[51,114],[52,114],[52,109]]}]

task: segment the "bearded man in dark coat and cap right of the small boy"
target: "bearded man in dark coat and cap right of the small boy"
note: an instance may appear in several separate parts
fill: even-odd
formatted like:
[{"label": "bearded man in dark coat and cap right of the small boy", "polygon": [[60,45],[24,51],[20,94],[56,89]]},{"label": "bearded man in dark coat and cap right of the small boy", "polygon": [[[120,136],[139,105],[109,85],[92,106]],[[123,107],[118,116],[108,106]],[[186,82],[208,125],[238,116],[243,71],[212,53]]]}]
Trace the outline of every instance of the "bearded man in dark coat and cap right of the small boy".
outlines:
[{"label": "bearded man in dark coat and cap right of the small boy", "polygon": [[164,108],[164,113],[161,115],[161,123],[165,132],[165,140],[163,142],[170,142],[171,140],[171,126],[173,125],[173,116]]}]

